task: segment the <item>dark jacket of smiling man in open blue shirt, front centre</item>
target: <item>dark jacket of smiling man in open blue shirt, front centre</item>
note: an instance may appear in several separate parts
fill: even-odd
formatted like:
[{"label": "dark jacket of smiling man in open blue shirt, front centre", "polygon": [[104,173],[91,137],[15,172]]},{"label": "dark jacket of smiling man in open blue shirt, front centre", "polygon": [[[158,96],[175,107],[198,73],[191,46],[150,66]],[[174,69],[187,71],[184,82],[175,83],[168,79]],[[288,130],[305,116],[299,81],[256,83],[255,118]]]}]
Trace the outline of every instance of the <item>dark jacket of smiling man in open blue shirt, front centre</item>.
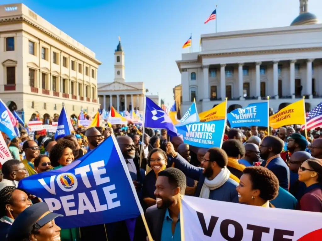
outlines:
[{"label": "dark jacket of smiling man in open blue shirt, front centre", "polygon": [[149,207],[145,213],[147,226],[154,241],[161,240],[162,226],[166,209],[158,209],[156,205]]}]

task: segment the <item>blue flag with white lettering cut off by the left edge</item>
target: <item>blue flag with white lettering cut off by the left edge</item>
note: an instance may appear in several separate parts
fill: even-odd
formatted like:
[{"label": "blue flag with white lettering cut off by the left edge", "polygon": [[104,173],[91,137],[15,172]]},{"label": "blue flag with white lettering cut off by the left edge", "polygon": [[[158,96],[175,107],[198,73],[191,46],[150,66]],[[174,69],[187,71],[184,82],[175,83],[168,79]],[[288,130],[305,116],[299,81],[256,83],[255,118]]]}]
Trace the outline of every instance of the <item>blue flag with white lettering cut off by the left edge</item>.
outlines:
[{"label": "blue flag with white lettering cut off by the left edge", "polygon": [[0,99],[0,131],[4,132],[10,140],[17,136],[13,123],[16,124],[17,120],[5,103]]}]

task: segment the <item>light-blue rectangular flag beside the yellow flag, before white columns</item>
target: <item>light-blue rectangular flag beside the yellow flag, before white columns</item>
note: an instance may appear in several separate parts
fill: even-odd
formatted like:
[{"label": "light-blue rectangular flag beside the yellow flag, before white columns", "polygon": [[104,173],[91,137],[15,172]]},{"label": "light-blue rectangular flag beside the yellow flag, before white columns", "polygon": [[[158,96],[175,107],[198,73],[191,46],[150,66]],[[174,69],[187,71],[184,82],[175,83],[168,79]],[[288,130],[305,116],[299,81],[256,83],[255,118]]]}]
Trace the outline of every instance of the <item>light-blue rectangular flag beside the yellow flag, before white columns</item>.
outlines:
[{"label": "light-blue rectangular flag beside the yellow flag, before white columns", "polygon": [[268,126],[268,102],[252,103],[227,114],[231,127]]}]

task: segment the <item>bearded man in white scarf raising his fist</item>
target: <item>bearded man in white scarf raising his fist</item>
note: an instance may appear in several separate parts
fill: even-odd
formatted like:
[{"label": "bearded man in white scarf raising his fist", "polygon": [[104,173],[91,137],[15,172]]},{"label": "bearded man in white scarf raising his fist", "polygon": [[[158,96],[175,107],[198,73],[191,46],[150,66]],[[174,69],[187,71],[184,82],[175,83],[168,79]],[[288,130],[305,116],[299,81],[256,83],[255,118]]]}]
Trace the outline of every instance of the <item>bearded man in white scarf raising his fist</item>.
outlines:
[{"label": "bearded man in white scarf raising his fist", "polygon": [[202,160],[203,167],[191,165],[175,152],[171,142],[167,145],[167,155],[187,177],[198,181],[194,196],[217,201],[238,203],[234,175],[227,169],[228,156],[221,148],[209,148]]}]

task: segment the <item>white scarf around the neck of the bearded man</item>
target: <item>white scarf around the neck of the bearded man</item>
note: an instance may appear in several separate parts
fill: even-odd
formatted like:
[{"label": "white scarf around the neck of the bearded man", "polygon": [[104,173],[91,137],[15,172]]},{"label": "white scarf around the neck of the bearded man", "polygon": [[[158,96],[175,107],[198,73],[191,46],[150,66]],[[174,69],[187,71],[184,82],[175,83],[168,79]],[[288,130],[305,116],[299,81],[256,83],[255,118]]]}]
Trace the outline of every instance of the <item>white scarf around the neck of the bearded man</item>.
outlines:
[{"label": "white scarf around the neck of the bearded man", "polygon": [[220,188],[227,182],[229,175],[230,171],[225,166],[213,180],[205,178],[199,197],[209,199],[210,190]]}]

